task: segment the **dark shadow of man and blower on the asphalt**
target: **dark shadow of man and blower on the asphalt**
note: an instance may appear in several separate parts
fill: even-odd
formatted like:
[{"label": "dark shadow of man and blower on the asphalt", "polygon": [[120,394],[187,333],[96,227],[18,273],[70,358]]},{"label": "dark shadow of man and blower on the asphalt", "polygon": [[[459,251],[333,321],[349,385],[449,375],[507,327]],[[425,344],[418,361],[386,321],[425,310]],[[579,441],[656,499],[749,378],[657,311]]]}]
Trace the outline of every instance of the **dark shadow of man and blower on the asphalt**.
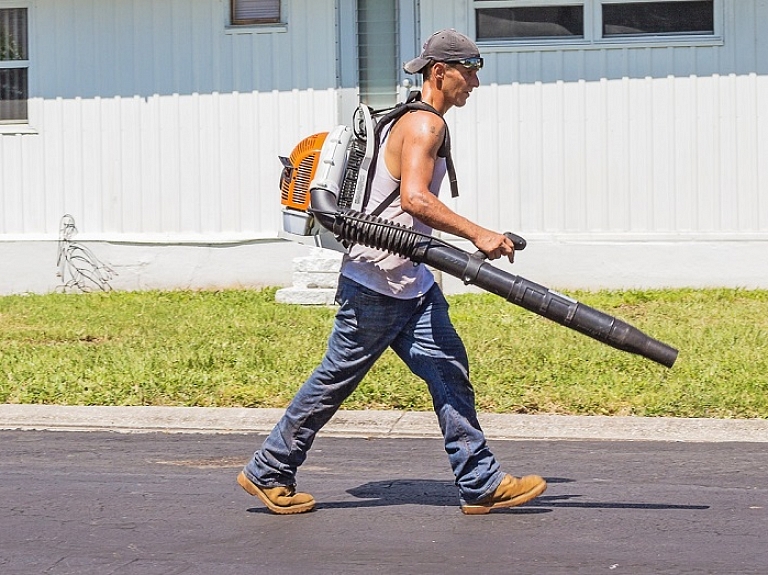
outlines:
[{"label": "dark shadow of man and blower on the asphalt", "polygon": [[[550,485],[574,483],[573,479],[548,477]],[[390,507],[394,505],[429,505],[455,507],[458,504],[456,486],[451,481],[433,479],[392,479],[372,481],[347,490],[358,501],[318,502],[317,509],[359,509],[365,507]],[[579,494],[542,495],[519,507],[499,509],[494,513],[539,514],[551,513],[557,508],[583,509],[647,509],[647,510],[705,510],[709,505],[676,505],[669,503],[631,501],[579,501]],[[254,513],[267,512],[253,508]]]}]

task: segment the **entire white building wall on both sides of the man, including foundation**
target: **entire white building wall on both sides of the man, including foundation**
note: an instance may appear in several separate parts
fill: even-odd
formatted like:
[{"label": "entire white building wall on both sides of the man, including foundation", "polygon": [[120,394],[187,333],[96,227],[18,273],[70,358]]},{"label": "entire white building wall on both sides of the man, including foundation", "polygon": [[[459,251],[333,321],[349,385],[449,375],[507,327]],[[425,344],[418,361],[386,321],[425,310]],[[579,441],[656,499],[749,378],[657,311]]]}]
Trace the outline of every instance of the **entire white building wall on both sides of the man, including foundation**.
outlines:
[{"label": "entire white building wall on both sides of the man, including foundation", "polygon": [[[290,283],[306,250],[276,239],[276,157],[348,107],[335,4],[285,0],[287,26],[256,32],[227,29],[225,0],[34,2],[34,133],[0,134],[0,293],[56,287],[66,213],[119,289]],[[553,287],[768,287],[768,2],[722,17],[721,45],[484,49],[448,114],[446,201],[524,235],[515,273]],[[421,0],[422,38],[449,26],[471,33],[471,2]]]}]

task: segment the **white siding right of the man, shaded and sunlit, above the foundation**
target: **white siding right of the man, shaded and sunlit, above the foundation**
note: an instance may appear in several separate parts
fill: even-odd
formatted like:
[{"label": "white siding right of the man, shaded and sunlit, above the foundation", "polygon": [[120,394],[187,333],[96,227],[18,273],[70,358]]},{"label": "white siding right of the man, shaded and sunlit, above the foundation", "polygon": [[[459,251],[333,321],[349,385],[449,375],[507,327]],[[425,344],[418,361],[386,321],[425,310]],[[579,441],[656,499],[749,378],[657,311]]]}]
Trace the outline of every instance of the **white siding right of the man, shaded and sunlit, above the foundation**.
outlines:
[{"label": "white siding right of the man, shaded and sunlit, above the foundation", "polygon": [[[469,28],[465,1],[421,6],[423,35]],[[723,46],[486,52],[451,113],[460,209],[549,237],[768,239],[768,2],[724,12]]]}]

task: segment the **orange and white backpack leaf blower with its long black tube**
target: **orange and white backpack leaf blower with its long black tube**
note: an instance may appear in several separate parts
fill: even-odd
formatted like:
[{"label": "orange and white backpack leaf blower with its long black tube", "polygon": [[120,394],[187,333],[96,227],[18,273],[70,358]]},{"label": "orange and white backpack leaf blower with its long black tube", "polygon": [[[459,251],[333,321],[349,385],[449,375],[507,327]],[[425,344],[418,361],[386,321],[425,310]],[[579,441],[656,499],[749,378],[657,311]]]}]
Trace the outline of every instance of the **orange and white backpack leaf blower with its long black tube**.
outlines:
[{"label": "orange and white backpack leaf blower with its long black tube", "polygon": [[[460,278],[616,349],[666,367],[674,365],[677,349],[613,316],[501,270],[486,262],[482,252],[470,254],[440,238],[364,213],[377,153],[376,113],[361,105],[352,124],[309,136],[290,157],[280,158],[282,237],[337,251],[355,243],[385,250]],[[516,250],[525,248],[519,236],[508,237]]]}]

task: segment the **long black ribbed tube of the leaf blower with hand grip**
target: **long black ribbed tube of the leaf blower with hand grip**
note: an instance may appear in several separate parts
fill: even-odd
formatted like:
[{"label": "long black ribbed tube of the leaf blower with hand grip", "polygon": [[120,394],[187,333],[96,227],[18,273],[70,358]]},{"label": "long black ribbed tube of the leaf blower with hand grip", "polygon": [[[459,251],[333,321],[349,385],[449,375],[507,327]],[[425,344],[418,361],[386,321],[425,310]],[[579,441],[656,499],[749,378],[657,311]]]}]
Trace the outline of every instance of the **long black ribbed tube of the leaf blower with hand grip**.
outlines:
[{"label": "long black ribbed tube of the leaf blower with hand grip", "polygon": [[[672,367],[677,359],[675,348],[613,316],[500,270],[483,261],[482,252],[469,254],[403,225],[342,209],[335,194],[324,188],[310,190],[310,204],[309,211],[320,224],[343,242],[385,250],[430,265],[597,341],[666,367]],[[522,247],[524,243],[518,244],[518,249]]]}]

